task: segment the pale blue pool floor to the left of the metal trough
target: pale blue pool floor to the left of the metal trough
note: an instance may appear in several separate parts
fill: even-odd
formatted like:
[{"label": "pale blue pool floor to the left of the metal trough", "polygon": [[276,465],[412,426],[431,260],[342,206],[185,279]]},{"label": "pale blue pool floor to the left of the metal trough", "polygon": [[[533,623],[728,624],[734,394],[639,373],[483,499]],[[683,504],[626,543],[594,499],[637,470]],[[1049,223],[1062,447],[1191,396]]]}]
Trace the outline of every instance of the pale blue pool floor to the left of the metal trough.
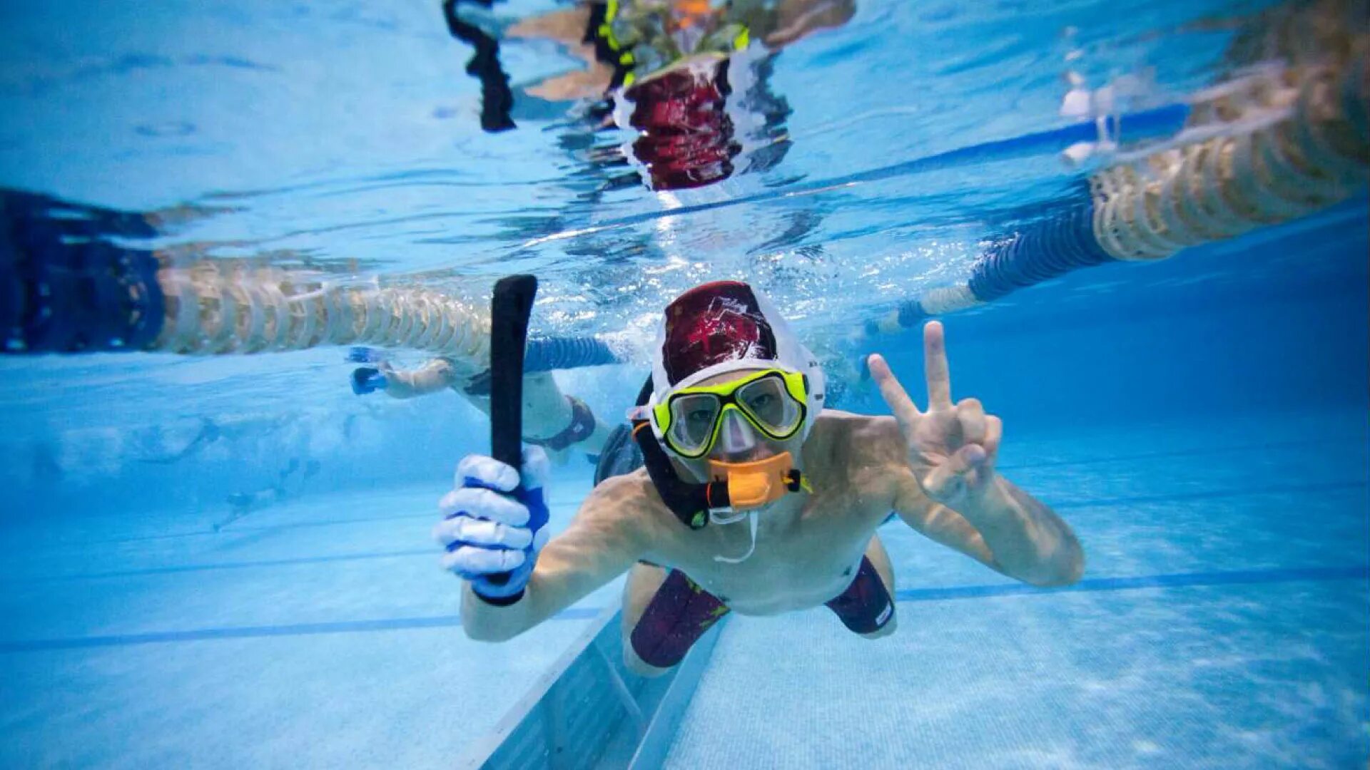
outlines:
[{"label": "pale blue pool floor to the left of the metal trough", "polygon": [[[562,485],[553,526],[588,489]],[[440,485],[10,532],[0,767],[438,767],[621,581],[501,645],[460,630]],[[49,522],[51,523],[51,522]]]}]

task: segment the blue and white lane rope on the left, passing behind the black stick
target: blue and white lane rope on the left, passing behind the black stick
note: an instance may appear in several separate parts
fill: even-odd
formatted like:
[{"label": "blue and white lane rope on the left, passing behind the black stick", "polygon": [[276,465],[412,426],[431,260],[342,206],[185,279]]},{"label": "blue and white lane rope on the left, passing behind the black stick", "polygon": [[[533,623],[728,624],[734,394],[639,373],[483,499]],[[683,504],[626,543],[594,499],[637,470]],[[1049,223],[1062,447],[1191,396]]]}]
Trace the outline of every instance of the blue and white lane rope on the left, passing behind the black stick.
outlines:
[{"label": "blue and white lane rope on the left, passing behind the black stick", "polygon": [[[177,264],[116,238],[141,218],[0,190],[0,338],[7,353],[149,351],[229,355],[370,345],[490,366],[486,308],[415,285],[341,285],[318,274],[200,259]],[[525,371],[621,363],[600,336],[527,340]]]}]

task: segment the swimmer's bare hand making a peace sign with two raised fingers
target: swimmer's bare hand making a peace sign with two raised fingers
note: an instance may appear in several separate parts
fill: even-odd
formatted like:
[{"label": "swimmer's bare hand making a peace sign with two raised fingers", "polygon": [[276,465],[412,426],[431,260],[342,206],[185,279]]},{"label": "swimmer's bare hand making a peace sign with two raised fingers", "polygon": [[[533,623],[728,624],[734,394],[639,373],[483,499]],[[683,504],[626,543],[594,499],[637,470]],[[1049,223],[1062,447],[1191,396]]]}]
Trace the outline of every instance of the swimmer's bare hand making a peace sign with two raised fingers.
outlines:
[{"label": "swimmer's bare hand making a peace sign with two raised fingers", "polygon": [[923,326],[927,411],[919,411],[882,356],[869,359],[871,377],[908,444],[908,464],[923,492],[951,508],[985,489],[995,475],[1003,422],[978,399],[951,400],[947,343],[937,321]]}]

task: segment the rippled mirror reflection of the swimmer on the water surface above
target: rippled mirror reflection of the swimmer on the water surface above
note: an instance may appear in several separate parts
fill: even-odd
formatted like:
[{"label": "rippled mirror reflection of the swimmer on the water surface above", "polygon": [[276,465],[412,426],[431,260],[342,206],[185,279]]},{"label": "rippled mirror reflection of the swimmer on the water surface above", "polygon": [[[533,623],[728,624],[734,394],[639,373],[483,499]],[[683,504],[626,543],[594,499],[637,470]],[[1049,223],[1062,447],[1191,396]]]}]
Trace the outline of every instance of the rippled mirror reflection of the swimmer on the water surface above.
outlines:
[{"label": "rippled mirror reflection of the swimmer on the water surface above", "polygon": [[[634,130],[623,160],[636,166],[629,177],[653,190],[699,188],[775,166],[788,149],[781,123],[789,107],[766,86],[774,53],[844,25],[855,12],[852,0],[608,0],[490,34],[463,21],[477,5],[489,3],[448,0],[444,7],[452,33],[477,49],[469,71],[485,84],[482,126],[514,127],[510,111],[519,99],[590,100],[596,127]],[[586,69],[515,97],[499,69],[496,34],[559,42]]]}]

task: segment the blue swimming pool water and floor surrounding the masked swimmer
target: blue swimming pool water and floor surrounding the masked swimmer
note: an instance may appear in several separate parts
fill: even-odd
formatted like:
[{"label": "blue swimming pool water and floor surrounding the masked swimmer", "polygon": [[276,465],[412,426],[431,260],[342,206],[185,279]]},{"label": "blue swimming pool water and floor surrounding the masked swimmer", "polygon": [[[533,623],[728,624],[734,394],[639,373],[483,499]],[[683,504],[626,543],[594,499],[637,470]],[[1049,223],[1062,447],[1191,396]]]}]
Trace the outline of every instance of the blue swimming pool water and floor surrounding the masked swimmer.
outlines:
[{"label": "blue swimming pool water and floor surrounding the masked swimmer", "polygon": [[[440,5],[7,7],[0,186],[152,225],[78,218],[100,243],[325,296],[478,307],[536,273],[534,332],[610,336],[630,360],[558,373],[611,419],[649,322],[712,278],[770,293],[838,406],[884,412],[854,362],[881,351],[917,382],[927,297],[981,270],[991,301],[941,306],[956,395],[1004,418],[1000,469],[1075,529],[1084,580],[1026,588],[885,525],[899,632],[732,618],[659,762],[1365,762],[1363,166],[1311,216],[1174,259],[1052,273],[1006,240],[1066,221],[1111,167],[1107,148],[1059,155],[1092,121],[1060,114],[1067,77],[1155,115],[1251,75],[1225,51],[1265,4],[858,3],[747,92],[764,104],[751,134],[734,118],[734,173],[681,189],[627,175],[622,133],[527,96],[575,67],[552,44],[501,47],[518,129],[481,132]],[[1132,125],[1118,152],[1148,147]],[[0,360],[0,763],[448,766],[612,611],[621,581],[469,641],[429,529],[488,422],[451,393],[355,396],[342,353]],[[555,470],[553,530],[590,470]]]}]

